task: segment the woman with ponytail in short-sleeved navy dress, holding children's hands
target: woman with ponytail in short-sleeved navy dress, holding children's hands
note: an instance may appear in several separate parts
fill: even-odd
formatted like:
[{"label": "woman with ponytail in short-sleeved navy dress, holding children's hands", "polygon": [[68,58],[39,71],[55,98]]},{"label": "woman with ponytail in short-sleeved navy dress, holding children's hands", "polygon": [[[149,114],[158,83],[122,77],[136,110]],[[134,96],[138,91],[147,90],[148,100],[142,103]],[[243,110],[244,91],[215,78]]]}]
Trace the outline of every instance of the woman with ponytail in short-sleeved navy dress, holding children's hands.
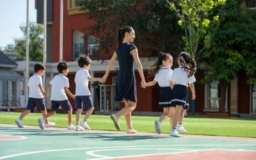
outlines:
[{"label": "woman with ponytail in short-sleeved navy dress, holding children's hands", "polygon": [[114,54],[108,63],[103,81],[106,81],[110,68],[115,60],[119,63],[119,72],[116,80],[116,95],[115,100],[124,101],[124,108],[115,114],[112,114],[110,118],[113,120],[115,127],[120,130],[118,118],[125,116],[126,124],[128,127],[127,133],[136,133],[132,127],[131,113],[137,106],[137,90],[136,81],[133,70],[133,63],[137,66],[139,75],[141,76],[141,83],[145,83],[144,74],[142,70],[141,61],[139,60],[137,47],[132,44],[135,38],[135,32],[131,26],[124,26],[120,28],[116,37],[116,49]]}]

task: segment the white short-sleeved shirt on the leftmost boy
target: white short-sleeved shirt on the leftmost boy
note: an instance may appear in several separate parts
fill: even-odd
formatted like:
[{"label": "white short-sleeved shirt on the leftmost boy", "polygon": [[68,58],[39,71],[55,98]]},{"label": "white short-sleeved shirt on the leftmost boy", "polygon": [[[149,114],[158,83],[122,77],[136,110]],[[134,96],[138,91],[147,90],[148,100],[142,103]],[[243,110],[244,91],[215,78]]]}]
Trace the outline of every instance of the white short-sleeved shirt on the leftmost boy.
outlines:
[{"label": "white short-sleeved shirt on the leftmost boy", "polygon": [[33,76],[30,77],[28,80],[28,86],[30,87],[30,91],[28,93],[28,97],[34,98],[34,99],[42,99],[44,98],[44,95],[42,94],[40,88],[38,85],[42,85],[42,77],[38,74],[33,74]]}]

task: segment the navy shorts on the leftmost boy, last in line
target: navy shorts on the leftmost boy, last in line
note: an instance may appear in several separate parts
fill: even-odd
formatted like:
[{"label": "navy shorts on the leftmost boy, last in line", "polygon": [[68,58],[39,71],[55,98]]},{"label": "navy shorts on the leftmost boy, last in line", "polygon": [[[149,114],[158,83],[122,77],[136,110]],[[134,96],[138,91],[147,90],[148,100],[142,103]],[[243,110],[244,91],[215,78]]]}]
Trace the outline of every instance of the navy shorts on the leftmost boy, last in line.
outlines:
[{"label": "navy shorts on the leftmost boy, last in line", "polygon": [[33,111],[35,107],[38,111],[45,111],[46,104],[44,104],[44,99],[35,99],[28,97],[28,105],[26,109]]}]

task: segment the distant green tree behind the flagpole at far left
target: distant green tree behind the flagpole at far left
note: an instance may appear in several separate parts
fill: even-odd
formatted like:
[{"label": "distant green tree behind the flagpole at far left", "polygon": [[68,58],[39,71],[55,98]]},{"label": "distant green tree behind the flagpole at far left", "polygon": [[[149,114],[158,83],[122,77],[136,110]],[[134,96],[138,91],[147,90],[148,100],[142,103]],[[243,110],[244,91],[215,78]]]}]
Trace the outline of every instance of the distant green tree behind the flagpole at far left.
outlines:
[{"label": "distant green tree behind the flagpole at far left", "polygon": [[[7,49],[18,53],[17,60],[26,59],[26,26],[21,26],[23,36],[14,39],[14,45],[9,44]],[[41,24],[30,22],[30,60],[42,61],[43,59],[43,34],[44,28]]]}]

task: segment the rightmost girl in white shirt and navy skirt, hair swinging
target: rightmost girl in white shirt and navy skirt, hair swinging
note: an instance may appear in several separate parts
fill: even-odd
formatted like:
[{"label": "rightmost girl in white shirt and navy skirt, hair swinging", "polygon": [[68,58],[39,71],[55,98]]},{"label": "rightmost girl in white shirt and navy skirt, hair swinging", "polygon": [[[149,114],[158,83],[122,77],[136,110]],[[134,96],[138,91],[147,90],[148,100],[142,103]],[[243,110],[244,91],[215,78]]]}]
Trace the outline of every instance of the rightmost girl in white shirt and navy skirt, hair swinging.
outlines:
[{"label": "rightmost girl in white shirt and navy skirt, hair swinging", "polygon": [[[194,77],[194,73],[196,72],[196,61],[194,61],[194,59],[186,52],[181,52],[178,55],[178,64],[180,66],[175,68],[171,76],[171,86],[173,89],[171,106],[175,106],[176,109],[170,135],[175,137],[180,137],[180,134],[178,134],[176,130],[187,132],[182,124],[185,109],[189,109],[189,103],[187,102],[187,86],[191,89],[192,99],[196,98],[193,84],[196,82],[196,78]],[[178,121],[180,121],[180,123],[176,129]]]}]

